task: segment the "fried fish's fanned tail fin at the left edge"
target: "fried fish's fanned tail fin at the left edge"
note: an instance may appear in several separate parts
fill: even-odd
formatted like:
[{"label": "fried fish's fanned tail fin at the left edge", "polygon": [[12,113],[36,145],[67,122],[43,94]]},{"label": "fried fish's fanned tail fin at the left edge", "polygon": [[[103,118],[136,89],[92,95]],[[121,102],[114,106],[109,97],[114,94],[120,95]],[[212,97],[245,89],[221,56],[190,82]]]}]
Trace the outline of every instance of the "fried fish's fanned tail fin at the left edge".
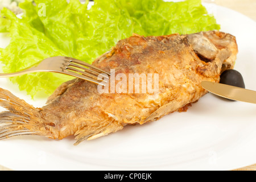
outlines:
[{"label": "fried fish's fanned tail fin at the left edge", "polygon": [[39,110],[14,96],[8,90],[0,88],[0,139],[19,135],[45,135],[53,138],[40,117]]}]

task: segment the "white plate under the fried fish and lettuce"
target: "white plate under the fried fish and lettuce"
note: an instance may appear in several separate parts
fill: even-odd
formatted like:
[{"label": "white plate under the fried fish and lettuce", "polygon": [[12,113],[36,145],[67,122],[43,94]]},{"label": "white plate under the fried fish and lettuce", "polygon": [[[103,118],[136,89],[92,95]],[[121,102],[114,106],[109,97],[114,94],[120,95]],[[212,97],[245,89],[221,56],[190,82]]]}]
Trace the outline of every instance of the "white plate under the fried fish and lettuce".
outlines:
[{"label": "white plate under the fried fish and lettuce", "polygon": [[[236,69],[256,90],[256,23],[236,11],[206,4],[221,30],[237,37]],[[8,40],[1,35],[0,46]],[[7,79],[1,88],[40,107]],[[73,137],[15,137],[0,141],[0,164],[15,170],[229,170],[256,163],[256,105],[207,94],[187,111],[73,146]]]}]

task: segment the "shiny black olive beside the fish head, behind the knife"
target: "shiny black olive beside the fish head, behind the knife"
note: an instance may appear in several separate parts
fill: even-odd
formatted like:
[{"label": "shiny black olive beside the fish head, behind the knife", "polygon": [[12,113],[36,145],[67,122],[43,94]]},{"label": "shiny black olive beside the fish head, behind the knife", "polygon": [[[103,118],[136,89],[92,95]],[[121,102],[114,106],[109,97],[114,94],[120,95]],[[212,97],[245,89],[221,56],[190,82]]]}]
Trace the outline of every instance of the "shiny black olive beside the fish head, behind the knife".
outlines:
[{"label": "shiny black olive beside the fish head, behind the knife", "polygon": [[220,83],[245,88],[245,82],[240,72],[234,69],[227,69],[220,76]]}]

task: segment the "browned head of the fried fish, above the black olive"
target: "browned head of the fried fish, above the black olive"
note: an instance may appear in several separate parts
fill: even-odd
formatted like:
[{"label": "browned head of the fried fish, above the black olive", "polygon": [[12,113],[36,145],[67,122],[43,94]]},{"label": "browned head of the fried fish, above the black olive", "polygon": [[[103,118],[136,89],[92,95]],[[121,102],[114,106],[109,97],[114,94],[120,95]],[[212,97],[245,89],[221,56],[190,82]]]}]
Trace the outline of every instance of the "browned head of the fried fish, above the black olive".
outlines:
[{"label": "browned head of the fried fish, above the black olive", "polygon": [[235,36],[220,31],[207,31],[187,35],[187,39],[201,60],[206,63],[215,62],[221,67],[221,72],[234,68],[238,53]]}]

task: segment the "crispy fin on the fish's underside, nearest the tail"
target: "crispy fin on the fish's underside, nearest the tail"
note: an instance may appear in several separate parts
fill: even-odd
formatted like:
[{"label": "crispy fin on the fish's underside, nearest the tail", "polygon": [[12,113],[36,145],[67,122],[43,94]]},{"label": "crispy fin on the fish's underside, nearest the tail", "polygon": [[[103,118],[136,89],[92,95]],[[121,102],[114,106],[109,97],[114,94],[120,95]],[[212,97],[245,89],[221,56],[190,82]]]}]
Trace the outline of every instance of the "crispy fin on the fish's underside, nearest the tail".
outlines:
[{"label": "crispy fin on the fish's underside, nearest the tail", "polygon": [[110,122],[106,126],[98,127],[97,129],[94,129],[94,131],[88,131],[85,127],[84,129],[76,132],[76,143],[74,143],[74,145],[76,146],[84,140],[93,140],[122,129],[123,125],[116,121]]}]

